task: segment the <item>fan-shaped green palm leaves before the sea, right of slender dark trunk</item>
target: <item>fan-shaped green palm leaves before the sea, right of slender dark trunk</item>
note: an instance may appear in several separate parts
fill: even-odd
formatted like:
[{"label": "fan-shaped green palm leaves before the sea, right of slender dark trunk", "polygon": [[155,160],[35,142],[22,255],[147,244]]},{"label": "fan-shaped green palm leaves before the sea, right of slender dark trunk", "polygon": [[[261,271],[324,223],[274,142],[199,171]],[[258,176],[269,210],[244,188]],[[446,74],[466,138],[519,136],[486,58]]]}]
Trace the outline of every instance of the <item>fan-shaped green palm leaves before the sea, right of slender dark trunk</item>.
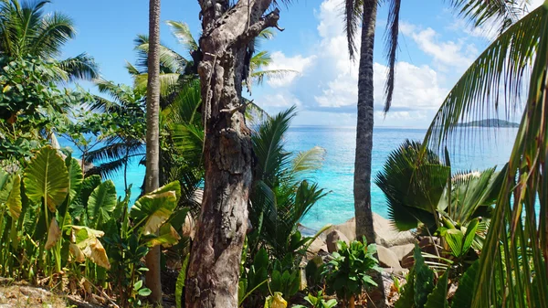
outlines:
[{"label": "fan-shaped green palm leaves before the sea, right of slender dark trunk", "polygon": [[489,218],[501,187],[495,169],[451,177],[450,165],[425,151],[421,143],[406,141],[390,154],[375,179],[385,193],[395,227],[408,230],[424,225],[434,231],[443,219],[467,226],[473,218]]}]

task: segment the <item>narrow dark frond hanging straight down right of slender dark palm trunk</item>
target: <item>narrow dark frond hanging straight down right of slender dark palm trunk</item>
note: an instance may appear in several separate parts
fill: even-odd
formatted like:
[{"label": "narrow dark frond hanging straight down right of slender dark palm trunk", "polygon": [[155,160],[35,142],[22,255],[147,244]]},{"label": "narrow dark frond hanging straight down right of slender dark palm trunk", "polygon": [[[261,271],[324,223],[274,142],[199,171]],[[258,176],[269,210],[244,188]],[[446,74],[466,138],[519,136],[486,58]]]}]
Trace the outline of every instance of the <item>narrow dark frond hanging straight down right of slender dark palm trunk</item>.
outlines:
[{"label": "narrow dark frond hanging straight down right of slender dark palm trunk", "polygon": [[395,84],[395,57],[397,54],[397,40],[399,37],[399,12],[401,0],[392,0],[390,2],[390,11],[388,13],[388,24],[386,26],[385,52],[388,58],[388,76],[385,84],[385,112],[390,110],[392,104],[392,95],[394,94]]}]

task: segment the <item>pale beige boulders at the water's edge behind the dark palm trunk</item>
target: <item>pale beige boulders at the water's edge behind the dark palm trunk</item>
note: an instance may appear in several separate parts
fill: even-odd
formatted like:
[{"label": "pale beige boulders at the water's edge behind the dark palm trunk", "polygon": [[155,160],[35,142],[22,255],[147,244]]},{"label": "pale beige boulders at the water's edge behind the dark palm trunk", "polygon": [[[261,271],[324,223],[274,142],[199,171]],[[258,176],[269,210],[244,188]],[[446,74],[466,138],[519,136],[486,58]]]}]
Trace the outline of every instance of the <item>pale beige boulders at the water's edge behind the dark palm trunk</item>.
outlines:
[{"label": "pale beige boulders at the water's edge behind the dark palm trunk", "polygon": [[[413,266],[413,249],[418,243],[420,247],[427,243],[419,243],[416,234],[411,231],[399,232],[392,222],[373,214],[374,233],[377,244],[379,263],[385,272],[403,275],[406,269]],[[355,218],[332,226],[315,239],[308,250],[308,257],[331,253],[337,250],[337,242],[350,242],[356,239]]]}]

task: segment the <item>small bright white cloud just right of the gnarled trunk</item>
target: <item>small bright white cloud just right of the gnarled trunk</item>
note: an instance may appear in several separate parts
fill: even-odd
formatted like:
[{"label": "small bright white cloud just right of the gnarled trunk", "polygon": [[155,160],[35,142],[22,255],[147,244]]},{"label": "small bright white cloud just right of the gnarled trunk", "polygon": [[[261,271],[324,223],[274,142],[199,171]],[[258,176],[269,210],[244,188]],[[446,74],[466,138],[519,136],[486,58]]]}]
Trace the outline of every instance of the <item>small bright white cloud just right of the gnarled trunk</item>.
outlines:
[{"label": "small bright white cloud just right of the gnarled trunk", "polygon": [[272,58],[272,62],[264,68],[265,70],[289,69],[294,71],[284,74],[283,77],[272,78],[267,81],[270,87],[278,88],[288,86],[299,78],[304,69],[311,66],[316,56],[302,57],[301,55],[297,55],[295,57],[287,57],[281,51],[275,51],[270,58]]}]

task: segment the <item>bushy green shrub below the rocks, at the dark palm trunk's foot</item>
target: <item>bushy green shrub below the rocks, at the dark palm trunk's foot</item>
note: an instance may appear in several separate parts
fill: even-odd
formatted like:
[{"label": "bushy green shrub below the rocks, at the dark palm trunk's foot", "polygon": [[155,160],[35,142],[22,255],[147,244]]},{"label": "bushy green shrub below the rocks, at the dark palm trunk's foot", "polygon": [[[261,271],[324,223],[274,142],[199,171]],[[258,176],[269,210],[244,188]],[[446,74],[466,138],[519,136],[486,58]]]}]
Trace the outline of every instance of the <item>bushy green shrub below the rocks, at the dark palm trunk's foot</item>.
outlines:
[{"label": "bushy green shrub below the rocks, at the dark palm trunk's foot", "polygon": [[381,271],[379,261],[374,258],[376,245],[366,245],[357,240],[350,244],[339,241],[337,248],[332,253],[330,267],[324,271],[327,290],[335,292],[345,305],[353,307],[356,295],[367,287],[376,286],[370,276],[371,271]]}]

